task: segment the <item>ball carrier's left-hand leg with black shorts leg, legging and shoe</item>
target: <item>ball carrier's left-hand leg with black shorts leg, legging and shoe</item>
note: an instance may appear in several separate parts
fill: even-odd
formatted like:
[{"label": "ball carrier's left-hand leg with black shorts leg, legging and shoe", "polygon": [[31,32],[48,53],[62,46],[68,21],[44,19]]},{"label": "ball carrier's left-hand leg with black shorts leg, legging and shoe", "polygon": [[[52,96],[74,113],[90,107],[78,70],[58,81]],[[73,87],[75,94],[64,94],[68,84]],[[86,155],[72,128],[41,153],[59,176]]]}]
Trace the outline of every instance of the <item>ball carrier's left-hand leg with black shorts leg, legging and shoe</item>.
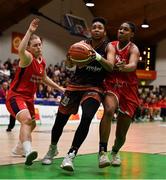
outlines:
[{"label": "ball carrier's left-hand leg with black shorts leg, legging and shoe", "polygon": [[61,99],[58,113],[51,131],[51,144],[48,152],[42,159],[42,164],[50,165],[53,162],[53,158],[57,155],[57,143],[62,135],[63,128],[66,125],[71,114],[78,111],[80,103],[80,93],[77,91],[65,91],[63,98]]}]

